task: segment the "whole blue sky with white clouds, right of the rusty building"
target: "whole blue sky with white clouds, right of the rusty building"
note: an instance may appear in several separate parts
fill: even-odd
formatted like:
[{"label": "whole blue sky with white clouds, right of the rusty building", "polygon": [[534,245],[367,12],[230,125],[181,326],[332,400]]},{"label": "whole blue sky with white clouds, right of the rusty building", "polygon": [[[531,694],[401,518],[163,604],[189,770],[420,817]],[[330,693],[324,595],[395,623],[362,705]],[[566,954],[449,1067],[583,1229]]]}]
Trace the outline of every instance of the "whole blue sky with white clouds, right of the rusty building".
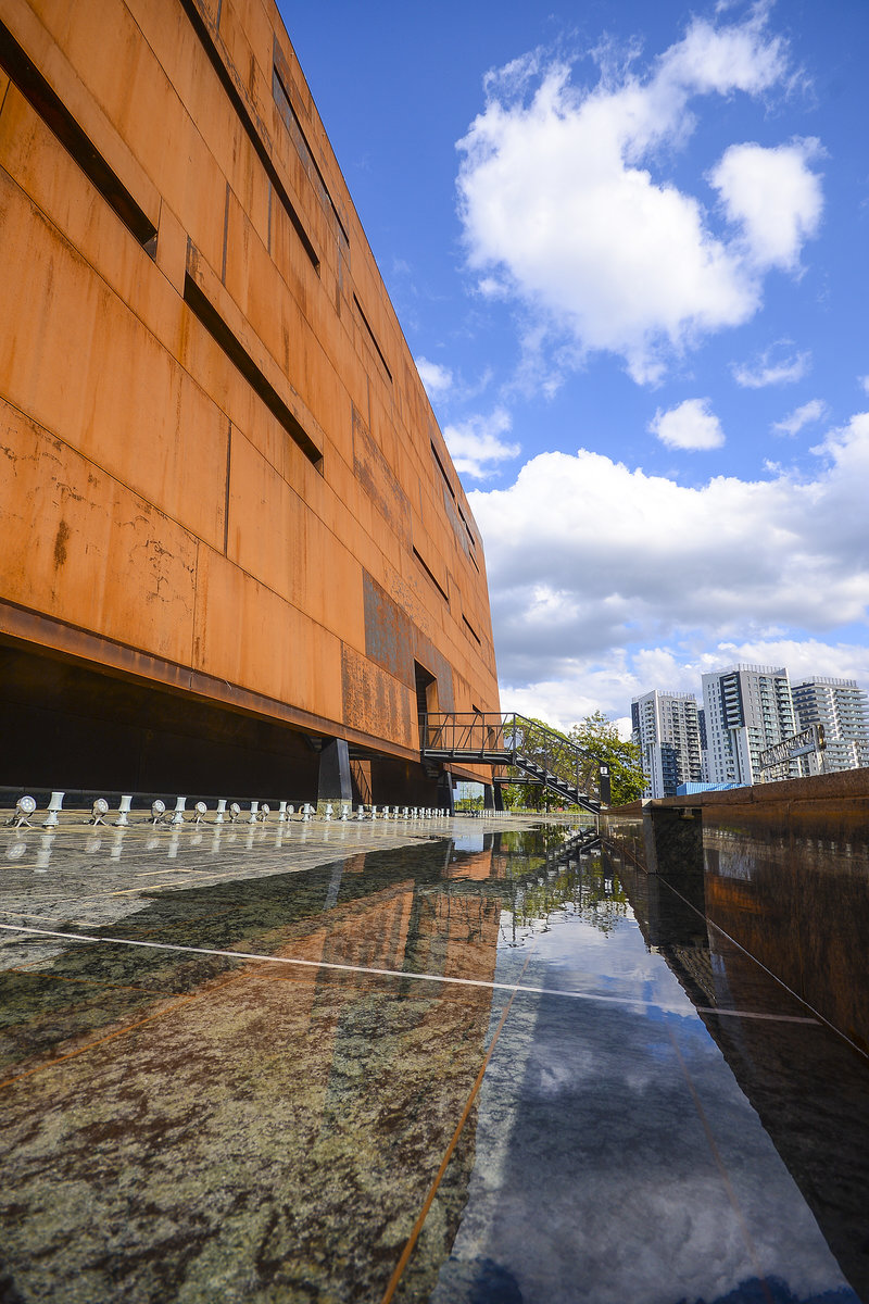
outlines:
[{"label": "whole blue sky with white clouds, right of the rusty building", "polygon": [[281,0],[483,535],[502,703],[869,686],[869,5]]}]

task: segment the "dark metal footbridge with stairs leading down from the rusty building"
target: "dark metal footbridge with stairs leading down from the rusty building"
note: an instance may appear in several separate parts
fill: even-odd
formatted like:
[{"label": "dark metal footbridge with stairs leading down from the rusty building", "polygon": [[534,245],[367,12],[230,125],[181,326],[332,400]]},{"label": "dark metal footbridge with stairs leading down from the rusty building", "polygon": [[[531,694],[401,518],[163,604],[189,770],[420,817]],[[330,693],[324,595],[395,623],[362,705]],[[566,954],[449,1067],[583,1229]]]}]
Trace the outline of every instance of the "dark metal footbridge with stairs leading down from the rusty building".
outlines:
[{"label": "dark metal footbridge with stairs leading down from the rusty building", "polygon": [[513,773],[496,773],[494,782],[542,784],[568,806],[591,815],[601,810],[601,802],[584,792],[597,760],[528,716],[427,712],[420,716],[420,742],[423,760],[509,767]]}]

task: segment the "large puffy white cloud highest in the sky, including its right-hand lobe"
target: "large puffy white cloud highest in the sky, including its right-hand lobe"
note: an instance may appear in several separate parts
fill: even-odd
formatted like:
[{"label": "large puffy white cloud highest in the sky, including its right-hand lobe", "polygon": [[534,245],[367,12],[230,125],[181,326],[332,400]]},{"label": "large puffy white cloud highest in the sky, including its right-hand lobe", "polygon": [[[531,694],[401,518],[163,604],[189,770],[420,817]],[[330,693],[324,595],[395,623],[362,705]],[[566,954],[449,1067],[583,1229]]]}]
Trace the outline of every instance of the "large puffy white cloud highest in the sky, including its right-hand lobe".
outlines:
[{"label": "large puffy white cloud highest in the sky, including its right-hand lobe", "polygon": [[509,287],[580,351],[620,355],[638,382],[658,379],[701,335],[748,321],[763,270],[795,266],[817,224],[809,146],[767,151],[788,181],[775,196],[778,237],[743,184],[760,146],[728,151],[714,173],[739,228],[724,239],[697,197],[651,168],[691,133],[692,100],[760,95],[786,73],[786,48],[756,9],[730,26],[694,20],[644,77],[605,65],[591,90],[537,55],[490,74],[486,107],[459,142],[479,284]]}]

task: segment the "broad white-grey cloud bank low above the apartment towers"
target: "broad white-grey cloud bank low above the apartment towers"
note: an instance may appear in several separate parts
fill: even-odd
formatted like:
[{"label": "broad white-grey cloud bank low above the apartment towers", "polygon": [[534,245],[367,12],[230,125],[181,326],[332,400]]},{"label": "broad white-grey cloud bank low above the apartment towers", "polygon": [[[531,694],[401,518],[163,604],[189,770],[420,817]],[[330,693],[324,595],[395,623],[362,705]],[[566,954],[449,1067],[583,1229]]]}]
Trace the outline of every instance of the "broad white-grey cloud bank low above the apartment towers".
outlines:
[{"label": "broad white-grey cloud bank low above the apartment towers", "polygon": [[865,622],[869,412],[812,451],[813,477],[701,488],[586,450],[545,452],[508,488],[472,493],[503,682],[560,682],[601,662],[610,674],[629,645]]}]

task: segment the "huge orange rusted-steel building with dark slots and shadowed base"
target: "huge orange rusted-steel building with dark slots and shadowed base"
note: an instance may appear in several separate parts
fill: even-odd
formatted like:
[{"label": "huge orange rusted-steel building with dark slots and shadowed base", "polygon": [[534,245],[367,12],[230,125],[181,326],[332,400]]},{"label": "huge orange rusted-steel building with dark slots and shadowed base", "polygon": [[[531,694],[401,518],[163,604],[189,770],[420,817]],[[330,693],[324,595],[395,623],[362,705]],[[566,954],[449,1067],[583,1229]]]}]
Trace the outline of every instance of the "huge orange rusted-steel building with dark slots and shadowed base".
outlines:
[{"label": "huge orange rusted-steel building with dark slots and shadowed base", "polygon": [[0,784],[433,801],[482,545],[275,4],[0,0]]}]

